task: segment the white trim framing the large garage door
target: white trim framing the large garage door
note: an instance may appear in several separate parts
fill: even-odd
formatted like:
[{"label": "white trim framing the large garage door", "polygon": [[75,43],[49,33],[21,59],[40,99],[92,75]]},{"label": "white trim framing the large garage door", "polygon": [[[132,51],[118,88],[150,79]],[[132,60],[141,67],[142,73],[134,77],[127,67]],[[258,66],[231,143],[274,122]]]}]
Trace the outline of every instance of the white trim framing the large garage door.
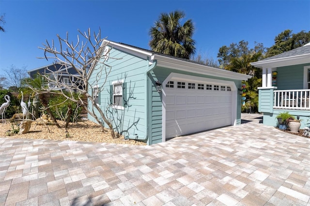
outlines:
[{"label": "white trim framing the large garage door", "polygon": [[166,84],[168,81],[171,80],[192,80],[195,82],[203,82],[203,83],[211,83],[211,84],[219,84],[219,85],[226,85],[231,88],[232,92],[232,119],[231,124],[236,125],[237,123],[237,87],[233,81],[226,81],[220,79],[211,79],[211,78],[204,78],[200,76],[191,76],[186,74],[178,74],[178,73],[171,73],[169,76],[163,81],[163,90],[162,90],[162,142],[166,141]]}]

